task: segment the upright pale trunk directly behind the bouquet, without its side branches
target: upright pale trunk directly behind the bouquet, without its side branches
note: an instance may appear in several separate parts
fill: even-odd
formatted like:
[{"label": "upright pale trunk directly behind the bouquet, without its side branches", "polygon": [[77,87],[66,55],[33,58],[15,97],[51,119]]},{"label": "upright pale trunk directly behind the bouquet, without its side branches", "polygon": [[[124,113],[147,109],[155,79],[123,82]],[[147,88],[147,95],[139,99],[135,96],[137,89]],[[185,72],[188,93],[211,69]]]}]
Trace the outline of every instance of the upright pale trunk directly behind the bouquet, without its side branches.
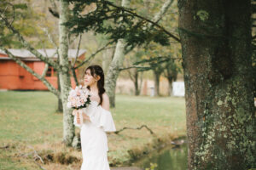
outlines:
[{"label": "upright pale trunk directly behind the bouquet, without its side branches", "polygon": [[59,34],[60,34],[60,65],[62,67],[60,72],[60,84],[61,84],[61,100],[63,108],[63,142],[69,146],[73,142],[74,137],[74,125],[73,125],[73,115],[71,114],[71,109],[67,108],[67,98],[71,87],[69,67],[68,67],[68,45],[67,45],[67,27],[62,24],[67,22],[69,8],[68,3],[64,0],[60,0],[61,12],[59,20]]}]

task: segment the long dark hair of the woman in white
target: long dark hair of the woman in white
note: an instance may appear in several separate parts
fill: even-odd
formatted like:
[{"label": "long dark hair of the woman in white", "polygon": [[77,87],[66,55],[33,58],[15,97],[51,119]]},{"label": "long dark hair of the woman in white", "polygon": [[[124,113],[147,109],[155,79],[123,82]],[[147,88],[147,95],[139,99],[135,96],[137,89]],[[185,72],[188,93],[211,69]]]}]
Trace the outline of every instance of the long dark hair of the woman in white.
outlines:
[{"label": "long dark hair of the woman in white", "polygon": [[[104,72],[100,65],[90,65],[85,69],[84,75],[86,74],[86,71],[88,69],[90,70],[90,74],[92,77],[95,77],[95,78],[96,76],[101,77],[100,80],[97,82],[97,88],[99,90],[99,96],[101,99],[99,105],[102,105],[102,94],[104,94],[104,92],[106,91],[104,88]],[[90,90],[90,86],[87,86],[87,88]]]}]

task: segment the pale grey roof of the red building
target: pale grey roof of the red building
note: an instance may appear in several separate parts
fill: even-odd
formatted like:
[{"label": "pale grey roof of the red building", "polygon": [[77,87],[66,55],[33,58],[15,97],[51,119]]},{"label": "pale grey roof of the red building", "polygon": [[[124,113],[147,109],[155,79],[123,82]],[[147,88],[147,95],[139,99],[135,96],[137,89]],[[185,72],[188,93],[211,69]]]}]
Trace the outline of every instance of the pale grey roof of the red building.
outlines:
[{"label": "pale grey roof of the red building", "polygon": [[[26,59],[26,60],[40,60],[38,59],[34,54],[32,54],[30,51],[26,49],[14,49],[14,48],[9,48],[8,51],[15,55],[16,57],[19,57],[20,59]],[[68,59],[75,59],[76,54],[77,54],[77,49],[68,49]],[[38,52],[42,54],[44,57],[48,58],[57,58],[57,53],[56,49],[51,48],[51,49],[38,49]],[[79,56],[84,54],[86,52],[85,49],[79,49]],[[5,54],[3,50],[0,49],[0,54]],[[78,57],[79,57],[78,56]],[[0,59],[9,59],[9,57],[0,57]]]}]

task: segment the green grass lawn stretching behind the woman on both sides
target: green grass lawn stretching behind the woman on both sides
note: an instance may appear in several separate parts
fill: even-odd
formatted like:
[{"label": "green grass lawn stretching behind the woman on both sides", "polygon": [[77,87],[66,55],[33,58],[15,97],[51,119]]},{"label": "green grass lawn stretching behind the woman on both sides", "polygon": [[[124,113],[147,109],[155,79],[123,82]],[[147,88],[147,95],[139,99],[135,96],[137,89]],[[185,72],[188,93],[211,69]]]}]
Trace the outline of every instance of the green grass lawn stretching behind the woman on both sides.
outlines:
[{"label": "green grass lawn stretching behind the woman on both sides", "polygon": [[[20,148],[23,148],[22,152],[31,152],[27,146],[32,146],[38,153],[42,150],[68,150],[70,155],[82,158],[81,151],[70,150],[61,145],[62,114],[56,109],[57,99],[49,92],[0,92],[0,146],[16,146],[13,150],[0,149],[0,169],[40,169],[33,161],[25,162],[29,160],[27,156],[18,154]],[[178,137],[186,134],[184,98],[117,94],[116,107],[110,111],[117,130],[145,124],[158,137],[167,134]],[[76,132],[79,132],[79,128]],[[129,157],[128,150],[139,150],[152,141],[152,134],[145,128],[127,129],[119,135],[108,134],[109,162],[125,161]],[[20,161],[23,163],[19,163]],[[53,163],[51,166],[43,165],[47,169],[59,165]],[[67,169],[67,165],[58,169]],[[79,169],[79,163],[71,169]]]}]

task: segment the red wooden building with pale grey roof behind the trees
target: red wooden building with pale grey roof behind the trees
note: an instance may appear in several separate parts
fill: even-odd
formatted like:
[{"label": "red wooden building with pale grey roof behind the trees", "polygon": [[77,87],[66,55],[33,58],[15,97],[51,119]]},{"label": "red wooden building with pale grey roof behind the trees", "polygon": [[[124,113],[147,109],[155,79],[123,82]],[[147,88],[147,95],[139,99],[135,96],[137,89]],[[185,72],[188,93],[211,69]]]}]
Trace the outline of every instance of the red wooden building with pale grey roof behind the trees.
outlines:
[{"label": "red wooden building with pale grey roof behind the trees", "polygon": [[[33,54],[25,49],[9,49],[11,54],[21,59],[26,65],[32,68],[33,71],[42,75],[45,63],[36,58]],[[55,49],[38,49],[38,52],[44,57],[57,59]],[[79,59],[84,59],[85,50],[79,50]],[[71,62],[77,54],[76,49],[68,50],[68,60]],[[77,72],[78,76],[78,72]],[[55,69],[49,65],[45,79],[49,81],[55,88],[58,88],[57,76]],[[75,87],[73,77],[71,78],[72,87]],[[34,77],[30,72],[26,71],[18,65],[13,59],[10,59],[4,51],[0,50],[0,89],[8,90],[48,90],[43,82]]]}]

